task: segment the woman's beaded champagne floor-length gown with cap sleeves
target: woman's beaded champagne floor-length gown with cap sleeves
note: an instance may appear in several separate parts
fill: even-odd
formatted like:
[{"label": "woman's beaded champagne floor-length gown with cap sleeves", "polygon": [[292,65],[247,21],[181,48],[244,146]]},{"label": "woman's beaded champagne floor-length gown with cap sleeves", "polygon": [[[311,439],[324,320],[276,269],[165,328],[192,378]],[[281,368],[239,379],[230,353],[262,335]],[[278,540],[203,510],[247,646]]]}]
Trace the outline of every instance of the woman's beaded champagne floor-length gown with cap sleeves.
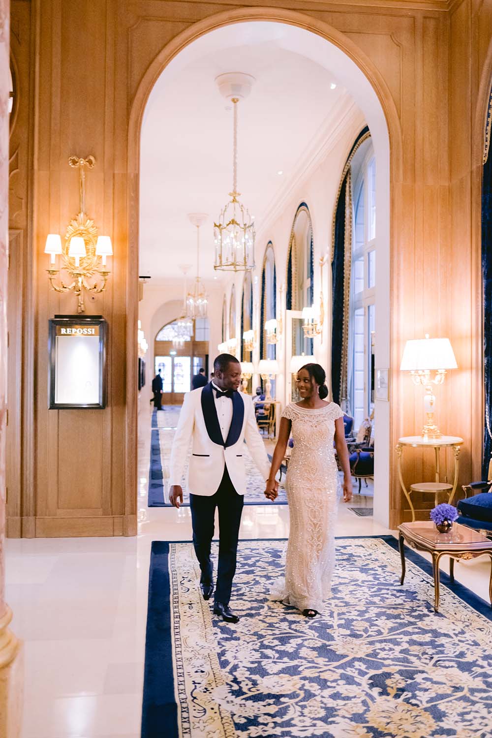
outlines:
[{"label": "woman's beaded champagne floor-length gown with cap sleeves", "polygon": [[309,410],[289,404],[282,415],[292,423],[294,448],[285,489],[291,521],[283,593],[275,599],[299,610],[322,610],[330,595],[335,564],[339,476],[333,438],[340,407]]}]

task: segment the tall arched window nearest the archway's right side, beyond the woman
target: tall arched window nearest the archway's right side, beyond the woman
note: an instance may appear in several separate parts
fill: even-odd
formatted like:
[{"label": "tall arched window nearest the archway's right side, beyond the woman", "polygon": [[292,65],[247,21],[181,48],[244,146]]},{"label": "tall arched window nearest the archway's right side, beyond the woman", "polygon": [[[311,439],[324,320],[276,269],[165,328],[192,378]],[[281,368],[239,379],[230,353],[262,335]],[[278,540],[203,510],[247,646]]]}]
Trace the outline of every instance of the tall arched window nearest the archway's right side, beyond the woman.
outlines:
[{"label": "tall arched window nearest the archway's right side, beyond the woman", "polygon": [[[363,148],[364,147],[364,148]],[[353,245],[350,308],[351,410],[356,429],[374,407],[375,157],[370,139],[353,160]],[[351,370],[350,370],[351,369]]]}]

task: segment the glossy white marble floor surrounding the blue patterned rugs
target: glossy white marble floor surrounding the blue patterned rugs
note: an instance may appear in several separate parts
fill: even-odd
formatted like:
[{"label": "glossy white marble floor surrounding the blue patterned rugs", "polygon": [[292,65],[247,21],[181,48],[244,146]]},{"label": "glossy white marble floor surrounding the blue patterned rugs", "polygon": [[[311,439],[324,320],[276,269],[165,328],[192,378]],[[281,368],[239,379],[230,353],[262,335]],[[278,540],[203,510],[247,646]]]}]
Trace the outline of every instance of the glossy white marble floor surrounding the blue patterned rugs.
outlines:
[{"label": "glossy white marble floor surrounding the blue patterned rugs", "polygon": [[[190,508],[147,507],[148,406],[139,420],[137,537],[7,540],[7,602],[24,640],[22,738],[139,736],[150,543],[191,535]],[[388,532],[341,506],[337,535]],[[242,538],[287,535],[287,506],[244,508]],[[457,578],[486,598],[489,566],[460,564]]]}]

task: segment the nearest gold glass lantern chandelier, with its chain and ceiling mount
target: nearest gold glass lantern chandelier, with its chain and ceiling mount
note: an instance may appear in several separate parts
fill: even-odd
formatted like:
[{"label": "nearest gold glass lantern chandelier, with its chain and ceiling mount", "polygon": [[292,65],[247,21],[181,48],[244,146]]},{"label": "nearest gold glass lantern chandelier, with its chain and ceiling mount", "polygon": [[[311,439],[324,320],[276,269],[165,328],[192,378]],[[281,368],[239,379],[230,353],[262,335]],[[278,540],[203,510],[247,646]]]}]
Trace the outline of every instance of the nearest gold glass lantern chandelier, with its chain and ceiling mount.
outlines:
[{"label": "nearest gold glass lantern chandelier, with its chain and ceiling mount", "polygon": [[238,199],[238,102],[251,92],[254,77],[242,72],[219,75],[218,89],[234,108],[234,135],[232,156],[232,198],[214,223],[214,269],[246,272],[254,269],[254,223],[248,210]]}]

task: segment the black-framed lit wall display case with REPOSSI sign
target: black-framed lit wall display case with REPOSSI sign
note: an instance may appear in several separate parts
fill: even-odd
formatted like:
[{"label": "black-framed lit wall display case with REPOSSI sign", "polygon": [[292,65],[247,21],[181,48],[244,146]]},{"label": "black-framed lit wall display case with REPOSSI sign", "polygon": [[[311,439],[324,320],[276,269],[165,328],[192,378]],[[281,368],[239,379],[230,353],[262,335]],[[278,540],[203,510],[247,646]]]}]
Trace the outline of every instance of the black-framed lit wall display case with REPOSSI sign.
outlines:
[{"label": "black-framed lit wall display case with REPOSSI sign", "polygon": [[106,406],[108,324],[101,315],[49,320],[49,409]]}]

